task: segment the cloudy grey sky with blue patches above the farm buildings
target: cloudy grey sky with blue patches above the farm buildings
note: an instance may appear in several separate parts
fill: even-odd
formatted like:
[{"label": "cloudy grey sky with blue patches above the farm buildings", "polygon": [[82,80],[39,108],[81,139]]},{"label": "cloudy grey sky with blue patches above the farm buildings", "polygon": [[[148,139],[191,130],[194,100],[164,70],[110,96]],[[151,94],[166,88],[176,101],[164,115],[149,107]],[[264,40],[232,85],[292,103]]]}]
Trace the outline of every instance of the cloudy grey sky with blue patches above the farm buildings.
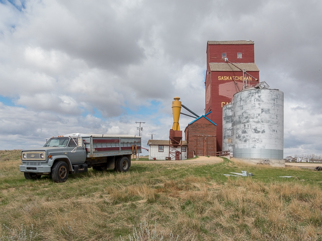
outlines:
[{"label": "cloudy grey sky with blue patches above the farm buildings", "polygon": [[322,155],[321,13],[320,0],[0,0],[0,150],[138,135],[136,122],[144,148],[169,140],[175,96],[204,114],[207,41],[252,40],[260,81],[284,92],[284,157]]}]

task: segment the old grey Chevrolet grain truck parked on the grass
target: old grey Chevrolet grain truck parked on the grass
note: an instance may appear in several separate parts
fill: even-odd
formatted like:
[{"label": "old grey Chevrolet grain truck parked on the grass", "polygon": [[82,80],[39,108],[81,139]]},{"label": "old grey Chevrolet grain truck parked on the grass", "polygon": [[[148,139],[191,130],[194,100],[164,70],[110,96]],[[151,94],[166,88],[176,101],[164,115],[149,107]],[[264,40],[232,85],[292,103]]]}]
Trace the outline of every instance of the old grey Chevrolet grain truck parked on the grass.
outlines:
[{"label": "old grey Chevrolet grain truck parked on the grass", "polygon": [[127,172],[131,155],[141,153],[141,137],[131,135],[67,134],[52,137],[42,148],[22,150],[20,171],[26,179],[51,175],[65,182],[69,174],[114,169]]}]

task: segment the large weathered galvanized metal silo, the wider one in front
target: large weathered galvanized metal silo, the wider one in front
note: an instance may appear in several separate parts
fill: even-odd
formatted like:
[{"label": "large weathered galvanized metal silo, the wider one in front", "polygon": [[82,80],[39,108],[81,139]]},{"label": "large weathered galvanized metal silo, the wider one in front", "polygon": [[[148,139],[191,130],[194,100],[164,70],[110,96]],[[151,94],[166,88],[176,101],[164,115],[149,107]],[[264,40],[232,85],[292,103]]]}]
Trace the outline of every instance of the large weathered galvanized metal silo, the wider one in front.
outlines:
[{"label": "large weathered galvanized metal silo, the wider one in front", "polygon": [[251,88],[233,96],[233,156],[283,159],[284,93]]}]

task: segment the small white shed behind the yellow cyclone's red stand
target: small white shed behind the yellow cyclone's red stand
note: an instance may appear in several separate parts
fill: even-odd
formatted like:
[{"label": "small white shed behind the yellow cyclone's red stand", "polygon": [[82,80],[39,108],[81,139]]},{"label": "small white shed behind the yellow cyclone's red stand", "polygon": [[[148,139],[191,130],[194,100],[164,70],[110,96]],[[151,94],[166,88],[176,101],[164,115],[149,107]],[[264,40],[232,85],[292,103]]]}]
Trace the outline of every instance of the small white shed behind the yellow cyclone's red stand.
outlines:
[{"label": "small white shed behind the yellow cyclone's red stand", "polygon": [[[169,140],[149,140],[149,160],[168,160],[169,159]],[[182,157],[181,160],[187,159],[187,141],[182,141]],[[178,147],[180,151],[180,147]]]}]

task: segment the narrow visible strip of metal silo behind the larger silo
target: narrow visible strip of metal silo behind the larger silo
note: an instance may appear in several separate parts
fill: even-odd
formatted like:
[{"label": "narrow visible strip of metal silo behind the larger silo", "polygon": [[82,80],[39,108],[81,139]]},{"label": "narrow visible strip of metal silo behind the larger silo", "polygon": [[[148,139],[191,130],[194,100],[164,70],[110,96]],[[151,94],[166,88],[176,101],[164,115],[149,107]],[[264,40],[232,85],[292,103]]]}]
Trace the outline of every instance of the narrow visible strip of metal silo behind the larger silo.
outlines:
[{"label": "narrow visible strip of metal silo behind the larger silo", "polygon": [[232,153],[232,121],[233,107],[232,103],[222,106],[222,151]]}]

